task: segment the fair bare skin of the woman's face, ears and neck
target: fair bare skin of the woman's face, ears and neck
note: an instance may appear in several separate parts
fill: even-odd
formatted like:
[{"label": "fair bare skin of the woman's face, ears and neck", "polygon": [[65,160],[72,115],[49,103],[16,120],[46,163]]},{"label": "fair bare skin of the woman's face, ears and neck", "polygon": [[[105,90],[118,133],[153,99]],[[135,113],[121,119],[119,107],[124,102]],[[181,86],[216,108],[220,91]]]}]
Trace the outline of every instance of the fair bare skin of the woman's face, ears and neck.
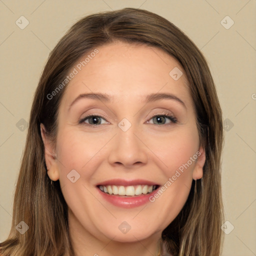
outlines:
[{"label": "fair bare skin of the woman's face, ears and neck", "polygon": [[[41,125],[47,173],[60,181],[77,255],[156,255],[161,232],[184,205],[192,179],[202,177],[205,154],[193,99],[182,67],[161,49],[117,41],[98,50],[66,85],[55,145]],[[183,72],[178,80],[169,75],[174,67]],[[112,98],[83,98],[68,109],[79,94],[90,92],[108,93]],[[147,94],[156,92],[172,93],[185,106],[173,99],[143,102]],[[153,123],[154,115],[166,113],[174,115],[177,123],[168,118]],[[88,114],[103,115],[101,124],[92,127],[88,119],[79,124]],[[131,123],[127,131],[118,127],[123,118]],[[96,188],[112,178],[146,179],[163,185],[198,150],[197,160],[154,202],[122,208],[102,199]],[[74,183],[67,178],[72,169],[80,175]],[[131,226],[125,234],[118,229],[122,221]]]}]

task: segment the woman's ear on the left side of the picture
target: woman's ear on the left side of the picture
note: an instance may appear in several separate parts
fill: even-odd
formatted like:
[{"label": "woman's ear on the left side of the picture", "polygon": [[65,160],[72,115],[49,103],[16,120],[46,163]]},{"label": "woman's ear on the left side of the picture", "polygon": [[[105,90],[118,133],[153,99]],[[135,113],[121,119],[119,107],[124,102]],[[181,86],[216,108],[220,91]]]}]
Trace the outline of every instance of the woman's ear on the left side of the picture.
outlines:
[{"label": "woman's ear on the left side of the picture", "polygon": [[54,153],[53,145],[48,136],[46,135],[45,127],[42,123],[40,124],[40,130],[42,141],[44,144],[44,158],[47,167],[47,174],[51,180],[56,181],[59,179],[56,154]]}]

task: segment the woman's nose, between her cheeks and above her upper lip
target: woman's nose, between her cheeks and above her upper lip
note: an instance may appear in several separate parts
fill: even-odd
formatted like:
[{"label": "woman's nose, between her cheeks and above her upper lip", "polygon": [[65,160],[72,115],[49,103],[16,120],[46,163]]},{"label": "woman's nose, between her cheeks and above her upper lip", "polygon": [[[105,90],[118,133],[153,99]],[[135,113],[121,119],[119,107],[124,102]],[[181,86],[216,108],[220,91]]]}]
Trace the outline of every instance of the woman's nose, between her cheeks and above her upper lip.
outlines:
[{"label": "woman's nose, between her cheeks and above her upper lip", "polygon": [[123,165],[126,168],[139,167],[148,159],[147,147],[139,132],[131,126],[127,131],[117,128],[108,156],[111,165]]}]

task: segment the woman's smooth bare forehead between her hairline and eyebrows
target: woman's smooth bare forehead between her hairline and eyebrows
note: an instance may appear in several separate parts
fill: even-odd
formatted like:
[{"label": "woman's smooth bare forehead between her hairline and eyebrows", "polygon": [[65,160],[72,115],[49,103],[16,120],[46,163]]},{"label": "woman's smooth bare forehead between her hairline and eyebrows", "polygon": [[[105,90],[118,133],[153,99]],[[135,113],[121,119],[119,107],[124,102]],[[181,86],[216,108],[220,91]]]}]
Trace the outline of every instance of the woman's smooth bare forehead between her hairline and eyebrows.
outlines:
[{"label": "woman's smooth bare forehead between her hairline and eyebrows", "polygon": [[119,41],[109,43],[97,47],[97,51],[87,52],[70,72],[74,69],[76,74],[63,96],[65,102],[85,92],[107,93],[113,95],[111,100],[115,101],[170,92],[182,97],[188,105],[192,104],[182,66],[157,47]]}]

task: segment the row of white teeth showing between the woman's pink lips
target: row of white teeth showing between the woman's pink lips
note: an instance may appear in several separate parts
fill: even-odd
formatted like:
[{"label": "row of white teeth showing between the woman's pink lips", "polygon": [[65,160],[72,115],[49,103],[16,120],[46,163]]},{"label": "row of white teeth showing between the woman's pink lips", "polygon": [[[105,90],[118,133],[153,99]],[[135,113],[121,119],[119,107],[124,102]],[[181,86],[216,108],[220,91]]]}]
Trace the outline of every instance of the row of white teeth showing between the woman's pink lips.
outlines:
[{"label": "row of white teeth showing between the woman's pink lips", "polygon": [[159,187],[159,185],[97,185],[104,193],[110,195],[136,196],[149,194]]}]

